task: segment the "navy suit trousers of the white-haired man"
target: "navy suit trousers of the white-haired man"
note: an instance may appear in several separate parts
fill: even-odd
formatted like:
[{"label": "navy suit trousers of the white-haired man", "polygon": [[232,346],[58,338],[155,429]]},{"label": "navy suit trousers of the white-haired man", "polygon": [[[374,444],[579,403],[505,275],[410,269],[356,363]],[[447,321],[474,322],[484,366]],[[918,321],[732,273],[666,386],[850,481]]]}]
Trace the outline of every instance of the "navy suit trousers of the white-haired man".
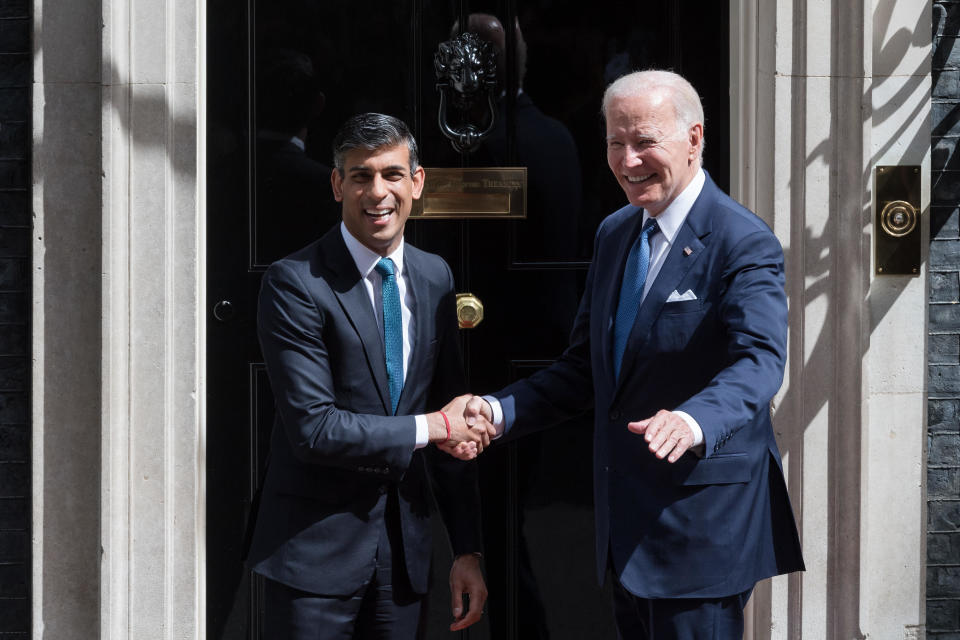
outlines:
[{"label": "navy suit trousers of the white-haired man", "polygon": [[749,589],[725,598],[638,598],[611,571],[619,640],[741,640]]}]

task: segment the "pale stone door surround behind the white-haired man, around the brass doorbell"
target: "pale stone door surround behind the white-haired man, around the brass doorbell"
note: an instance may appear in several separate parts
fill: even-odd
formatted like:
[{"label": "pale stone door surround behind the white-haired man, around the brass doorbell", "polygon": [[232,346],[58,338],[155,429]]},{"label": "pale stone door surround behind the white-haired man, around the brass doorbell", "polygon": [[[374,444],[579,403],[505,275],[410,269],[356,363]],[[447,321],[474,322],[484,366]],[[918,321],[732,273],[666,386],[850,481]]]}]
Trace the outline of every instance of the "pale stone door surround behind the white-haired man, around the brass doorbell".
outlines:
[{"label": "pale stone door surround behind the white-haired man, around the brass doorbell", "polygon": [[787,258],[775,425],[807,563],[757,589],[748,635],[920,637],[926,274],[875,276],[872,220],[875,167],[906,164],[926,221],[931,3],[739,0],[731,20],[734,195]]}]

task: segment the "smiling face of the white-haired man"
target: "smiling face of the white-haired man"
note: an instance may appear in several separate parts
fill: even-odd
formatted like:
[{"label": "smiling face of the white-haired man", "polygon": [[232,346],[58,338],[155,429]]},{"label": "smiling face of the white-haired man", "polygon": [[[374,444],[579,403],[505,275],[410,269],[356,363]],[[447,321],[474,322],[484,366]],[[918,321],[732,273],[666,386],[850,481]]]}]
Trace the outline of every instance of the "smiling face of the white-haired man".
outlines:
[{"label": "smiling face of the white-haired man", "polygon": [[667,89],[611,98],[606,121],[610,170],[630,204],[659,215],[700,168],[703,125],[678,127]]}]

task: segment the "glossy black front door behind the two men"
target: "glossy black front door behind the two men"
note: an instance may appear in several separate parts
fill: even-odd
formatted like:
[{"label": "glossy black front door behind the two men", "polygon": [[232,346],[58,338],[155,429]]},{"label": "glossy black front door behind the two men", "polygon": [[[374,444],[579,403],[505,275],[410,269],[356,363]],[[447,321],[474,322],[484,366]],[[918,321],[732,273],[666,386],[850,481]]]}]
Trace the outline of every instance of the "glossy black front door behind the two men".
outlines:
[{"label": "glossy black front door behind the two men", "polygon": [[[402,118],[428,182],[430,168],[526,167],[523,220],[407,226],[407,240],[442,255],[458,290],[483,302],[483,322],[461,334],[471,390],[493,391],[563,350],[594,230],[625,203],[606,167],[599,115],[610,81],[650,67],[688,77],[707,114],[707,169],[726,186],[728,9],[674,0],[208,7],[208,633],[269,638],[259,629],[257,582],[241,562],[272,417],[256,292],[271,261],[339,220],[329,189],[334,131],[361,111]],[[472,152],[455,151],[438,125],[434,53],[460,25],[494,42],[498,55],[495,126]],[[480,125],[489,123],[482,111]],[[482,456],[490,601],[466,637],[616,637],[593,569],[591,420]],[[450,635],[449,562],[438,544],[430,638]]]}]

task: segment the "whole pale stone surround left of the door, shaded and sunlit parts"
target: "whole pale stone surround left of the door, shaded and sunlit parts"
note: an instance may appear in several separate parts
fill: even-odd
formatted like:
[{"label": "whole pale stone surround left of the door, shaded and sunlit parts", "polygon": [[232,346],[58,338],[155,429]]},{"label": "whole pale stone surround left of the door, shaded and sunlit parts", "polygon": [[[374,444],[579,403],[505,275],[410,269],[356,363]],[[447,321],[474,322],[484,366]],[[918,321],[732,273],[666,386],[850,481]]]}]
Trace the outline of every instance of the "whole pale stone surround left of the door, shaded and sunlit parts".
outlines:
[{"label": "whole pale stone surround left of the door, shaded and sunlit parts", "polygon": [[33,8],[33,637],[200,638],[205,4]]}]

